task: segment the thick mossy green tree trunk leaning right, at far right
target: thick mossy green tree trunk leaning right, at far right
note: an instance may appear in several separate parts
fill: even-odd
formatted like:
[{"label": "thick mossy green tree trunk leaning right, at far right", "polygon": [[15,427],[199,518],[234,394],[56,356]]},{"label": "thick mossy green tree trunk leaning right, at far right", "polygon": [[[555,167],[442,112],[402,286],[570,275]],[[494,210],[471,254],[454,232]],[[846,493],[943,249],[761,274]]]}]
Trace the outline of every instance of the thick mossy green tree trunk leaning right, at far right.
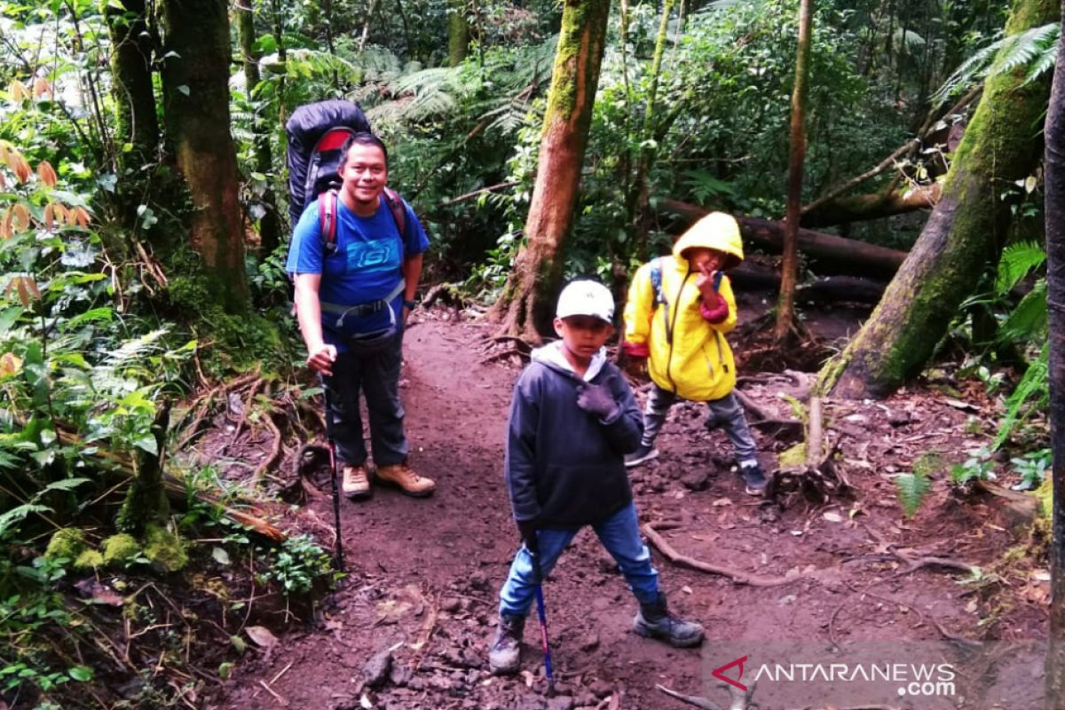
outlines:
[{"label": "thick mossy green tree trunk leaning right, at far right", "polygon": [[[1058,16],[1051,0],[1015,0],[1006,34]],[[920,373],[962,300],[1002,251],[1010,205],[999,195],[1031,174],[1033,136],[1047,82],[1025,83],[1025,67],[988,79],[917,244],[847,349],[821,371],[819,386],[845,397],[885,397]]]}]

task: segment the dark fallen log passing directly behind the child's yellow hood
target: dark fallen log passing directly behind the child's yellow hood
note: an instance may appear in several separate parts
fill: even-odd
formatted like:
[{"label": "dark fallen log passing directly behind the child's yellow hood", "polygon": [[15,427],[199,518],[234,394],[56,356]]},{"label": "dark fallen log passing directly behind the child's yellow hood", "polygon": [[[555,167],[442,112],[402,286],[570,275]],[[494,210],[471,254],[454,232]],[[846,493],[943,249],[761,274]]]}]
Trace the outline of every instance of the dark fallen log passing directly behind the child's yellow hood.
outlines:
[{"label": "dark fallen log passing directly behind the child's yellow hood", "polygon": [[[698,204],[679,200],[657,200],[659,212],[678,217],[675,229],[681,232],[692,222],[707,214],[709,210]],[[734,215],[739,222],[743,240],[763,247],[780,250],[784,244],[784,225],[779,221]],[[835,234],[815,232],[809,229],[799,230],[799,249],[806,255],[817,259],[823,267],[829,266],[832,273],[851,276],[876,276],[890,278],[906,258],[905,251],[888,249],[874,244],[866,244],[848,240]]]}]

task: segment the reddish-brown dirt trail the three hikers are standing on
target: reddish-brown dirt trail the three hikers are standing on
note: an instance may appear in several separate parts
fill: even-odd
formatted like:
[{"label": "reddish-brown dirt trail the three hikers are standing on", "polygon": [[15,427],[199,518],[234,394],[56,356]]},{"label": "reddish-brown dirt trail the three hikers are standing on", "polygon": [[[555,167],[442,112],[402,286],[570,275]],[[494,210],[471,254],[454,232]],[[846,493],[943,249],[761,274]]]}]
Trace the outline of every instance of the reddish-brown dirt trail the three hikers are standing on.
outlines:
[{"label": "reddish-brown dirt trail the three hikers are standing on", "polygon": [[[542,674],[535,620],[525,635],[528,673],[501,679],[487,672],[495,595],[517,545],[502,480],[517,370],[478,364],[484,332],[436,319],[410,330],[402,384],[411,462],[437,480],[437,494],[415,500],[378,486],[366,502],[344,501],[350,576],[342,591],[315,620],[294,630],[282,632],[276,616],[280,643],[269,653],[255,649],[209,707],[572,707],[559,698],[548,706],[542,684],[534,682]],[[888,425],[882,410],[905,410],[910,424],[898,425],[896,416]],[[963,442],[931,433],[908,448],[899,441],[921,436],[933,425],[961,427],[964,413],[931,399],[899,399],[849,416],[855,436],[845,455],[865,462],[850,474],[858,502],[781,511],[744,496],[728,469],[723,434],[707,436],[702,412],[690,406],[674,408],[659,440],[661,458],[634,473],[642,519],[684,521],[681,529],[663,533],[682,551],[747,573],[810,575],[780,587],[743,587],[678,568],[655,554],[672,605],[706,626],[709,648],[739,651],[739,639],[936,640],[937,625],[950,633],[978,633],[984,610],[950,575],[924,569],[881,581],[901,567],[875,540],[908,541],[922,554],[981,564],[1011,544],[1004,526],[981,529],[997,519],[994,511],[983,503],[951,508],[941,482],[916,518],[904,521],[900,513],[889,478],[892,463],[912,461],[914,446],[947,456]],[[774,446],[759,437],[769,465]],[[331,519],[327,505],[317,508],[323,519]],[[871,582],[873,592],[864,595]],[[545,595],[556,676],[575,707],[679,708],[656,683],[689,694],[704,690],[708,672],[700,651],[673,650],[629,631],[635,601],[589,532],[563,556]],[[998,621],[1005,637],[1043,625],[1037,605],[1020,600],[1011,613]],[[377,689],[364,689],[365,664],[388,649],[391,674]]]}]

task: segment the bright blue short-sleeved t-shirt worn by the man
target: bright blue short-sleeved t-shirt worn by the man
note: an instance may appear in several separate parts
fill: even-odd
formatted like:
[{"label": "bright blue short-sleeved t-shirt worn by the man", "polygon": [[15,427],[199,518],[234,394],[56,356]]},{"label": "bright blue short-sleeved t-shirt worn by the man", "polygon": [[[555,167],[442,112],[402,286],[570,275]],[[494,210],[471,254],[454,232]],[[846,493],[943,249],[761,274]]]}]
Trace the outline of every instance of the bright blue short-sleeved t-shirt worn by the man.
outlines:
[{"label": "bright blue short-sleeved t-shirt worn by the man", "polygon": [[[382,197],[372,217],[360,217],[348,210],[343,200],[337,200],[337,249],[327,254],[322,238],[318,201],[307,205],[292,234],[289,261],[290,274],[321,274],[318,298],[323,303],[359,306],[388,297],[403,279],[405,259],[423,253],[429,248],[422,222],[406,200],[407,234],[400,236],[392,210]],[[323,264],[324,262],[324,264]],[[403,294],[392,301],[392,312],[399,320]],[[322,312],[326,342],[342,344],[343,334],[370,333],[388,328],[391,314],[388,309],[358,317],[344,316],[337,327],[338,313]]]}]

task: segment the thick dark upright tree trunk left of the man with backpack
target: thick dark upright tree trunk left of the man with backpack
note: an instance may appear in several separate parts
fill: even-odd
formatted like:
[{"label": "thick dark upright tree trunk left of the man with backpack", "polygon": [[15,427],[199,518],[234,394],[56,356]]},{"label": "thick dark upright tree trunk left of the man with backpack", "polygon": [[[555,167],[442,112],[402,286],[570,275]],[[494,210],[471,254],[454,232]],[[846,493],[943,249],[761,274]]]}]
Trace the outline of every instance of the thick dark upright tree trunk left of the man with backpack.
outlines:
[{"label": "thick dark upright tree trunk left of the man with backpack", "polygon": [[247,301],[236,153],[229,133],[229,16],[225,0],[165,0],[166,126],[193,202],[191,240],[218,300]]}]

